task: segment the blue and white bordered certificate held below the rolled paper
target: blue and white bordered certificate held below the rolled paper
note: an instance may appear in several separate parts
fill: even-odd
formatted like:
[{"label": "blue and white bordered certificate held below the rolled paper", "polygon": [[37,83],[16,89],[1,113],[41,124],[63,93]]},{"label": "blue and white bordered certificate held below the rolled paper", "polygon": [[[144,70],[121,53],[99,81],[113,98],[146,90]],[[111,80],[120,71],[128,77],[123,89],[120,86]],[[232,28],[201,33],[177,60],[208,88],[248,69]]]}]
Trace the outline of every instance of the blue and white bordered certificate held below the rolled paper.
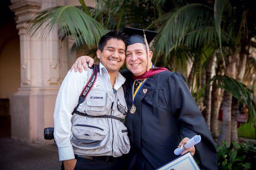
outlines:
[{"label": "blue and white bordered certificate held below the rolled paper", "polygon": [[168,164],[163,165],[163,167],[160,167],[157,170],[200,170],[200,168],[191,153],[188,152]]}]

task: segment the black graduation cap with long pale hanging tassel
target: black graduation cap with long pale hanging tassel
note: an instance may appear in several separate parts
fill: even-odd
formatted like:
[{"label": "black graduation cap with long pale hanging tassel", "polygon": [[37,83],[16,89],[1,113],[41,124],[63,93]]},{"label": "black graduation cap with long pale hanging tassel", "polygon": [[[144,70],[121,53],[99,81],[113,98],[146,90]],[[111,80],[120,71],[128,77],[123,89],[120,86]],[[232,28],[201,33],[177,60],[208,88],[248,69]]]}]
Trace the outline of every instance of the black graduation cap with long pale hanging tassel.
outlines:
[{"label": "black graduation cap with long pale hanging tassel", "polygon": [[147,48],[147,71],[149,71],[149,46],[148,44],[154,39],[154,37],[157,35],[157,32],[154,31],[148,31],[144,29],[136,29],[136,28],[130,28],[130,27],[125,27],[123,29],[123,32],[129,36],[128,44],[132,45],[135,43],[142,43],[146,45]]}]

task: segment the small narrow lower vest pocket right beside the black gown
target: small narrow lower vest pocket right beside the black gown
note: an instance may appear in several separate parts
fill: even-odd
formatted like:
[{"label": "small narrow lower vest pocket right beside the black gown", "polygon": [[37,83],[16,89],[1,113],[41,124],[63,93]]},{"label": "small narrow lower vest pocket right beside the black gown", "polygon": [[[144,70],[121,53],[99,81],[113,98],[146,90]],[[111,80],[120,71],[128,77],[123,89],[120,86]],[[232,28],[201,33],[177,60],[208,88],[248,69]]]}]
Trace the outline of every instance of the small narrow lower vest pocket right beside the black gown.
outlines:
[{"label": "small narrow lower vest pocket right beside the black gown", "polygon": [[130,151],[130,141],[128,138],[128,130],[126,127],[118,128],[118,147],[122,154],[126,154]]}]

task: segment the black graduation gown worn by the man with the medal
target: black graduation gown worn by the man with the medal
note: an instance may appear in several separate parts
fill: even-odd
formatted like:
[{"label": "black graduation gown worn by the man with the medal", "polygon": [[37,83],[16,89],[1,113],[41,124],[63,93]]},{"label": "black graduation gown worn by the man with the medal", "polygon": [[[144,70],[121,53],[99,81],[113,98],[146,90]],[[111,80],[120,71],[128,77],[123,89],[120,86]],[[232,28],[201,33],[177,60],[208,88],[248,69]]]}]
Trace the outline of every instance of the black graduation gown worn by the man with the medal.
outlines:
[{"label": "black graduation gown worn by the man with the medal", "polygon": [[174,150],[183,138],[201,135],[195,146],[199,166],[217,170],[215,142],[183,75],[164,71],[150,77],[137,95],[136,112],[131,114],[131,72],[122,73],[127,80],[123,86],[128,106],[125,126],[131,142],[131,151],[125,156],[128,169],[157,169],[178,157]]}]

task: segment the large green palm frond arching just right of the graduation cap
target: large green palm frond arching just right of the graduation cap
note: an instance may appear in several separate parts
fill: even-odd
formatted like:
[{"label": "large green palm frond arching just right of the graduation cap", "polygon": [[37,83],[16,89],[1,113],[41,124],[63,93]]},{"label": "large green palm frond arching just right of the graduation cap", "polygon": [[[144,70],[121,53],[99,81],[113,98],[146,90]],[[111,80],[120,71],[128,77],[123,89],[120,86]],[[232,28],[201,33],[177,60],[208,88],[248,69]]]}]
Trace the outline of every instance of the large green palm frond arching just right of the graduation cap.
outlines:
[{"label": "large green palm frond arching just right of the graduation cap", "polygon": [[[203,4],[192,3],[177,8],[153,22],[149,27],[162,24],[152,45],[157,55],[168,55],[184,42],[187,45],[196,46],[213,37],[213,29],[206,29],[207,26],[212,26],[210,12],[212,9]],[[202,33],[203,31],[209,33]],[[195,32],[197,34],[194,34]]]}]

